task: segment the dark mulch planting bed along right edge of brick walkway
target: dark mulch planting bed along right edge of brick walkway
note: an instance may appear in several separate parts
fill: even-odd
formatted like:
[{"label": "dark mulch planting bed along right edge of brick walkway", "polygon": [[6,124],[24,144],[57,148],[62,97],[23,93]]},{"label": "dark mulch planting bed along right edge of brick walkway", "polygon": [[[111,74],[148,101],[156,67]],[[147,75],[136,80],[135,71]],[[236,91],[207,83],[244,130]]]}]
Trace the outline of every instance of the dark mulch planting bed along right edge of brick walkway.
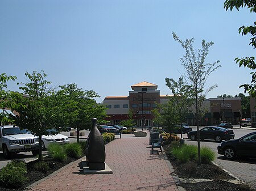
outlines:
[{"label": "dark mulch planting bed along right edge of brick walkway", "polygon": [[196,162],[180,163],[177,159],[168,152],[168,145],[164,146],[164,150],[174,167],[174,173],[182,179],[210,179],[213,181],[197,182],[197,183],[180,183],[179,186],[187,191],[256,191],[248,185],[237,185],[224,180],[232,180],[230,176],[220,167],[214,164],[197,165]]}]

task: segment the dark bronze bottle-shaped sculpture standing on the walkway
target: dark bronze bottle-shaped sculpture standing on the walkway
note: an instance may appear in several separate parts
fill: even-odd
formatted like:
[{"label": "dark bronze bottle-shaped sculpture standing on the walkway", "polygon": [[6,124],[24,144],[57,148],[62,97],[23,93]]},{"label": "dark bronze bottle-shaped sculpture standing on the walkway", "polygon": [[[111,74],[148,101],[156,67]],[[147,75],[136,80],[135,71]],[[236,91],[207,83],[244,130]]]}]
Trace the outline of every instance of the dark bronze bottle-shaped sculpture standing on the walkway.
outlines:
[{"label": "dark bronze bottle-shaped sculpture standing on the walkway", "polygon": [[97,118],[92,118],[93,126],[87,139],[85,155],[90,170],[105,169],[105,144],[97,128]]}]

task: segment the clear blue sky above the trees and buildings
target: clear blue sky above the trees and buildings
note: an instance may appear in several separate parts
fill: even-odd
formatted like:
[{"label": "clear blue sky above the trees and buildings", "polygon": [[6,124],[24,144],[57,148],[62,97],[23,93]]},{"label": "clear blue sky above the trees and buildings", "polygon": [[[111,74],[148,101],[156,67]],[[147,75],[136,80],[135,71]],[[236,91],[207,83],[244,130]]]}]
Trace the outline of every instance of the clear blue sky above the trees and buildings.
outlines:
[{"label": "clear blue sky above the trees and buildings", "polygon": [[[250,36],[238,28],[251,25],[248,9],[224,10],[224,1],[0,1],[0,73],[26,82],[24,73],[44,70],[52,86],[77,83],[101,97],[129,95],[133,84],[158,85],[171,94],[165,78],[184,73],[179,59],[184,49],[172,38],[213,41],[207,62],[220,60],[207,86],[217,84],[209,97],[243,92],[250,70],[236,57],[255,56]],[[18,91],[16,82],[8,83]]]}]

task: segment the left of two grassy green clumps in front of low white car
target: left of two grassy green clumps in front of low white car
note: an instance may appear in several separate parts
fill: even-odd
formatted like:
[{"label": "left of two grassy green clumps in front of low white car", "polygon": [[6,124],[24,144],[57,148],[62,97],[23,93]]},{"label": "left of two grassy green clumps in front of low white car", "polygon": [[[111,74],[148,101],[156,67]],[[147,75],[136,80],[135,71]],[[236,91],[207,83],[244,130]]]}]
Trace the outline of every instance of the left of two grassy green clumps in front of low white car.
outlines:
[{"label": "left of two grassy green clumps in front of low white car", "polygon": [[67,159],[63,146],[59,145],[58,143],[49,145],[48,151],[53,160],[63,162],[65,159]]}]

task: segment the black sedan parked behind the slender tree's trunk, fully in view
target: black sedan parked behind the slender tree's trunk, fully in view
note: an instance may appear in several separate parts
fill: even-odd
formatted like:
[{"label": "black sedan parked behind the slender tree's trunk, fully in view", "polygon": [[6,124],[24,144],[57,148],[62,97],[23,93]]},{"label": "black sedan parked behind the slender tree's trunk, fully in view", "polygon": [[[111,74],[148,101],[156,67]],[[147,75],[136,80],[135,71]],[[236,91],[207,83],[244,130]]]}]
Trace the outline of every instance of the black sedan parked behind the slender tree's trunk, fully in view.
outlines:
[{"label": "black sedan parked behind the slender tree's trunk, fully in view", "polygon": [[[190,131],[188,138],[192,141],[197,139],[197,131]],[[208,126],[200,130],[200,139],[214,139],[217,142],[234,138],[233,130],[228,130],[218,126]]]}]

